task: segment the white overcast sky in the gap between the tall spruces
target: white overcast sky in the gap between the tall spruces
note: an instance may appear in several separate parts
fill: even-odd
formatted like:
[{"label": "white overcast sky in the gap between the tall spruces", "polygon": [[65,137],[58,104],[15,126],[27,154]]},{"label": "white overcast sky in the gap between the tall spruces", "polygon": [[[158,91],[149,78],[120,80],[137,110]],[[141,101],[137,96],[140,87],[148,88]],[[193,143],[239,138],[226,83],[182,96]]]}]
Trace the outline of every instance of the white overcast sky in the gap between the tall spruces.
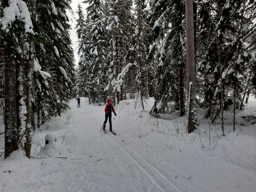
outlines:
[{"label": "white overcast sky in the gap between the tall spruces", "polygon": [[[77,65],[77,63],[78,63],[78,55],[77,55],[77,46],[78,46],[78,44],[77,44],[77,34],[76,34],[76,29],[74,29],[75,28],[75,25],[76,25],[76,20],[75,19],[77,19],[77,14],[75,13],[76,11],[77,11],[77,5],[78,5],[78,3],[79,2],[81,2],[81,1],[83,1],[83,0],[73,0],[72,1],[72,3],[71,3],[71,7],[72,7],[72,10],[73,10],[73,12],[74,12],[74,14],[73,13],[67,13],[68,14],[68,17],[69,17],[69,19],[70,19],[70,24],[71,24],[71,27],[72,27],[72,30],[70,31],[70,33],[71,33],[71,36],[70,36],[70,38],[71,38],[71,41],[72,41],[72,44],[73,44],[73,49],[75,50],[74,51],[74,55],[75,55],[75,64]],[[85,8],[86,8],[86,4],[84,4],[84,3],[81,3],[81,6],[84,8],[84,10],[83,10],[83,12],[84,12],[84,14],[86,14],[86,10],[85,10]]]}]

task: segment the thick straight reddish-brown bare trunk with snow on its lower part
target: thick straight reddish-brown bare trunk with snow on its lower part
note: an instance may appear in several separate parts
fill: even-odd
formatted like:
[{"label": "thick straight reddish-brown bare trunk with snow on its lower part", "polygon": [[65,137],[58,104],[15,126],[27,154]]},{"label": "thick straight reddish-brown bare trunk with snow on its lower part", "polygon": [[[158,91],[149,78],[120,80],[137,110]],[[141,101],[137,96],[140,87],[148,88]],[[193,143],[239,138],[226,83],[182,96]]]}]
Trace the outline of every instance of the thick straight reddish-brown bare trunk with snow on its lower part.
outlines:
[{"label": "thick straight reddish-brown bare trunk with snow on its lower part", "polygon": [[185,0],[186,9],[186,39],[187,39],[187,87],[188,91],[188,133],[196,129],[195,101],[195,52],[194,52],[194,22],[193,0]]}]

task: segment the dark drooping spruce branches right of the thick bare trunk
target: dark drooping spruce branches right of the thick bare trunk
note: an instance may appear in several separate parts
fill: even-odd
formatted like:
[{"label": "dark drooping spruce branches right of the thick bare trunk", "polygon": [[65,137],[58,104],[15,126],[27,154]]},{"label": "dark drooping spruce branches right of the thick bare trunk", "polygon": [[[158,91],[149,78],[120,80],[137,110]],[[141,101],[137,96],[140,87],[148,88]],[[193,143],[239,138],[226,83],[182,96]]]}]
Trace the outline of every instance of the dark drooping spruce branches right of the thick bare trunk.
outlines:
[{"label": "dark drooping spruce branches right of the thick bare trunk", "polygon": [[255,68],[255,42],[250,39],[255,34],[255,6],[251,1],[200,4],[197,92],[203,98],[201,107],[208,109],[206,117],[212,121],[221,113],[221,79],[224,110],[228,110],[235,98],[241,101],[239,95],[247,84],[244,79]]}]

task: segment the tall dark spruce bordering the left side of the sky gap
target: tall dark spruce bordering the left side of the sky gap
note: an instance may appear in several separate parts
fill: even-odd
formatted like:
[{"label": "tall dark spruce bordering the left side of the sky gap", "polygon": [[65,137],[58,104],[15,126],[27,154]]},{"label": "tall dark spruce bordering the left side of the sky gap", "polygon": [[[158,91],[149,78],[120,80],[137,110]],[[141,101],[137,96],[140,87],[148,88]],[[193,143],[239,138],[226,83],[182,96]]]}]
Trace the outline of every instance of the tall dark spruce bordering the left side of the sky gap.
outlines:
[{"label": "tall dark spruce bordering the left side of the sky gap", "polygon": [[[42,69],[50,73],[47,91],[47,109],[44,113],[60,115],[68,109],[74,83],[74,55],[69,37],[70,25],[66,10],[70,9],[70,0],[49,0],[38,2],[38,26],[40,35],[45,40],[38,47],[44,49],[38,58]],[[42,114],[45,115],[45,114]]]}]

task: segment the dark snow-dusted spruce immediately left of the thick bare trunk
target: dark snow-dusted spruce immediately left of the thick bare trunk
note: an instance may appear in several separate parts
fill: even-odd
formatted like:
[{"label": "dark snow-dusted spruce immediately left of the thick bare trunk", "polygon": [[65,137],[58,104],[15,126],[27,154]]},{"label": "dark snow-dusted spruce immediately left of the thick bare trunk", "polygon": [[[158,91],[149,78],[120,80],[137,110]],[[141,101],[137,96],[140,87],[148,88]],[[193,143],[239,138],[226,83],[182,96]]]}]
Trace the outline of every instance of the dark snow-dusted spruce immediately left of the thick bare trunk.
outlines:
[{"label": "dark snow-dusted spruce immediately left of the thick bare trunk", "polygon": [[[184,1],[152,1],[150,54],[158,54],[157,93],[151,114],[180,111],[185,114],[184,70],[185,6]],[[158,44],[161,43],[160,49]],[[166,111],[167,109],[167,111]]]}]

